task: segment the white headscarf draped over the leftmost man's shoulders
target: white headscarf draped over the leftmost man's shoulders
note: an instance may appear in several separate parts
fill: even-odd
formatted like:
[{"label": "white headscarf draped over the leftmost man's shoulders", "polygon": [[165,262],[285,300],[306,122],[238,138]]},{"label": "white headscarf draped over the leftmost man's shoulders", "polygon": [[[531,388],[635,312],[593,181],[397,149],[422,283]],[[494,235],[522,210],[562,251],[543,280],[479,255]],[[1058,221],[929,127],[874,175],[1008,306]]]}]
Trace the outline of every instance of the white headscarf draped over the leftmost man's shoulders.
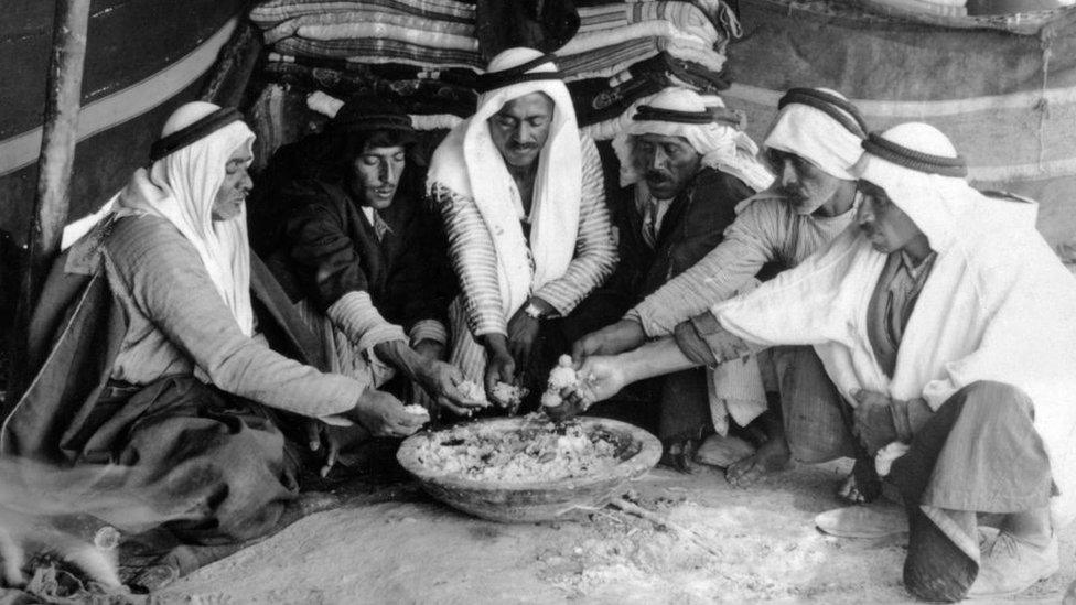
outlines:
[{"label": "white headscarf draped over the leftmost man's shoulders", "polygon": [[[162,137],[217,109],[219,107],[209,102],[190,102],[169,118]],[[146,213],[174,225],[197,250],[217,292],[247,336],[254,334],[247,209],[244,205],[239,215],[230,220],[213,220],[213,203],[224,183],[228,159],[244,148],[252,160],[254,139],[255,134],[246,123],[234,121],[169,153],[153,162],[149,170],[134,172],[115,207],[118,216]]]}]

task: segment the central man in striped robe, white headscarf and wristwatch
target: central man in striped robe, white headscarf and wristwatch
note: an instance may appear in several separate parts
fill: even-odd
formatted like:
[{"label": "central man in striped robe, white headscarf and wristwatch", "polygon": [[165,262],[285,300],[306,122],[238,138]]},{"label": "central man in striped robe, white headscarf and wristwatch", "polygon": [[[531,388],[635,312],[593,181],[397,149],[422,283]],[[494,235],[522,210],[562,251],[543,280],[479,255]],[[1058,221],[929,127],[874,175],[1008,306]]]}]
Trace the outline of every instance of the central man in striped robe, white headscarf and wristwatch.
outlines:
[{"label": "central man in striped robe, white headscarf and wristwatch", "polygon": [[509,48],[480,80],[474,116],[438,147],[428,188],[441,209],[461,296],[450,309],[451,363],[484,381],[531,389],[540,341],[612,272],[616,250],[601,160],[580,134],[550,56]]}]

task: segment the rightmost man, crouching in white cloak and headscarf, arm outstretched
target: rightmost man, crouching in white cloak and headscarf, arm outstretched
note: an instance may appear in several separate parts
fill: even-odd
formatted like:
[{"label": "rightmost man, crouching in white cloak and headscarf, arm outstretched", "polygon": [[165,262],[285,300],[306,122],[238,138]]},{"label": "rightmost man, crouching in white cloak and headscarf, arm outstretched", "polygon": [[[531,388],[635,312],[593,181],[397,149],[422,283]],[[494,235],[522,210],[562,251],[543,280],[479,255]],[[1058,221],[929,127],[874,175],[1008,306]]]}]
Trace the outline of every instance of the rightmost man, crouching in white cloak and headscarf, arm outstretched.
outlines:
[{"label": "rightmost man, crouching in white cloak and headscarf, arm outstretched", "polygon": [[[1076,279],[1035,230],[1036,204],[971,188],[935,128],[896,126],[863,148],[856,227],[674,338],[589,358],[570,399],[813,344],[903,497],[908,591],[1019,594],[1057,571],[1056,530],[1076,512]],[[1000,516],[992,542],[980,514]]]}]

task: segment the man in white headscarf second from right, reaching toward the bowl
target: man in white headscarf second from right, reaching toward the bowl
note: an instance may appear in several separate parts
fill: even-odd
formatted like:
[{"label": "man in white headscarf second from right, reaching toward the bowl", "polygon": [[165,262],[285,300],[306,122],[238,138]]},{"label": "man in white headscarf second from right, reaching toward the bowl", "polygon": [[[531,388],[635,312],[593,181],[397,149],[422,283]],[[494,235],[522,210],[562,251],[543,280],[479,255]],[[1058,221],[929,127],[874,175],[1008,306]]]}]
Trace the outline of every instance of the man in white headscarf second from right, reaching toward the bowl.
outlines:
[{"label": "man in white headscarf second from right, reaching toward the bowl", "polygon": [[[867,136],[863,118],[847,98],[825,88],[793,88],[777,107],[763,142],[777,172],[773,186],[738,206],[735,222],[720,245],[701,260],[646,296],[621,322],[578,342],[577,358],[622,353],[647,338],[670,335],[679,322],[740,292],[765,266],[795,267],[852,222],[856,177],[851,171]],[[779,400],[779,406],[760,419],[767,439],[753,454],[753,445],[728,431],[746,426],[765,406],[736,397],[729,385],[734,382],[727,376],[730,370],[720,368],[715,377],[715,387],[723,381],[722,388],[732,397],[711,398],[709,412],[718,434],[707,439],[696,458],[728,467],[734,485],[783,468],[789,456],[818,463],[856,453],[843,439],[843,418],[835,413],[838,408],[832,401],[839,395],[810,347],[767,352],[760,358],[764,371],[770,359],[776,366],[772,380],[776,385],[767,385],[767,390],[778,393],[770,399]],[[850,486],[843,491],[851,491]]]}]

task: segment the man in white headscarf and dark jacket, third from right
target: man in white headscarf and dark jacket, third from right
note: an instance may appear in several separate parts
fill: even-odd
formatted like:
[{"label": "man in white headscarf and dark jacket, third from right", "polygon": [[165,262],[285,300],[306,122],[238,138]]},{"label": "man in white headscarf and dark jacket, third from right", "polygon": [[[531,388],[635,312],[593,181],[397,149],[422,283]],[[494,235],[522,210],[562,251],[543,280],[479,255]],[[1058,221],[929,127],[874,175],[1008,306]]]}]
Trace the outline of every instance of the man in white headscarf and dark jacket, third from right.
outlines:
[{"label": "man in white headscarf and dark jacket, third from right", "polygon": [[[612,204],[621,260],[605,285],[567,320],[572,339],[615,322],[698,262],[721,242],[736,205],[773,181],[742,130],[742,115],[687,88],[666,88],[639,107],[613,150],[625,187]],[[765,406],[755,363],[736,369],[742,371],[722,380],[713,396],[755,398]],[[653,430],[676,464],[676,446],[698,440],[709,424],[710,378],[703,370],[664,377],[624,393],[609,411],[647,426],[656,420]]]}]

